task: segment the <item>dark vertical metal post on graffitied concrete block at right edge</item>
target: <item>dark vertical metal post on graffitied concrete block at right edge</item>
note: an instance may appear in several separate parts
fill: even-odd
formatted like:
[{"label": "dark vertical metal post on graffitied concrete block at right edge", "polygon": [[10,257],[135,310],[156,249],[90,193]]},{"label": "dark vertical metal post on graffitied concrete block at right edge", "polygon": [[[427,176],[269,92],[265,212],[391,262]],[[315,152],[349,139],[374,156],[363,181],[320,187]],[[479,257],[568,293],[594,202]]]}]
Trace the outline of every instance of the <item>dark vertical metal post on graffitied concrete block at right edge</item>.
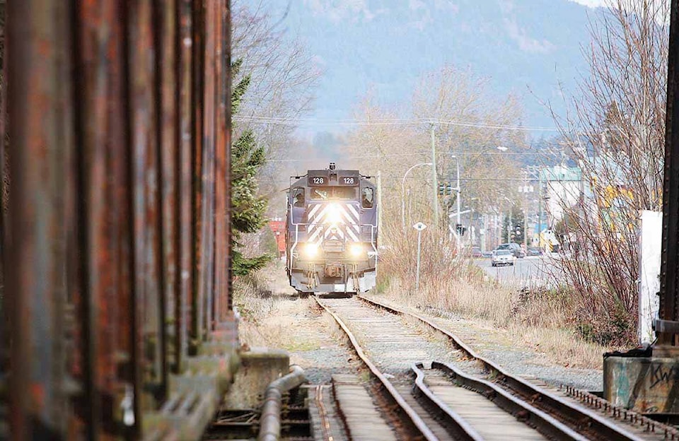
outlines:
[{"label": "dark vertical metal post on graffitied concrete block at right edge", "polygon": [[[671,1],[667,80],[659,316],[679,322],[679,0]],[[678,343],[678,334],[658,332],[658,344]]]}]

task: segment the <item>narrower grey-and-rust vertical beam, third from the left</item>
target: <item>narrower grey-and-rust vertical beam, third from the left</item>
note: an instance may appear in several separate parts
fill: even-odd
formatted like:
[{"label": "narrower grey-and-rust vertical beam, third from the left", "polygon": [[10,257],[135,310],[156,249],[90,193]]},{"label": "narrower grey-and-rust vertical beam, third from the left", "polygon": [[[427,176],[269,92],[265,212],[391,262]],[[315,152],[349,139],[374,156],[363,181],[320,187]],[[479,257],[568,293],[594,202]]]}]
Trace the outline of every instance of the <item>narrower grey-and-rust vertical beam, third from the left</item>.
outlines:
[{"label": "narrower grey-and-rust vertical beam, third from the left", "polygon": [[[141,342],[142,381],[144,391],[153,398],[162,394],[162,304],[161,275],[161,207],[159,206],[160,164],[156,124],[156,71],[154,58],[158,52],[154,45],[153,1],[139,0],[128,3],[128,76],[129,126],[132,146],[132,190],[134,208],[134,305],[138,314],[135,338]],[[151,401],[135,391],[136,401],[145,403],[144,410],[153,406]],[[139,408],[141,411],[142,409]]]}]

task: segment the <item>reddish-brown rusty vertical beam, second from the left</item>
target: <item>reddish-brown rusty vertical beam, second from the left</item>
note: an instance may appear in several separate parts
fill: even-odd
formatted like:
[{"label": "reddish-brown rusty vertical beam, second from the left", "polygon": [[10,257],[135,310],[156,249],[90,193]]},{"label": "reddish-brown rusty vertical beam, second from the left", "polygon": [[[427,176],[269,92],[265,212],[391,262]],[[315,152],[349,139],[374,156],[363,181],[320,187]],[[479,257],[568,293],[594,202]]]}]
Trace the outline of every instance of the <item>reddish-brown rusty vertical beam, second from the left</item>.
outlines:
[{"label": "reddish-brown rusty vertical beam, second from the left", "polygon": [[[91,436],[111,438],[122,425],[116,415],[125,391],[135,382],[129,363],[134,353],[134,307],[129,272],[132,266],[129,221],[129,129],[125,117],[124,11],[120,2],[79,3],[76,42],[76,133],[79,134],[84,236],[79,253],[86,286],[82,300],[89,315],[93,357],[83,411],[91,413]],[[76,372],[77,373],[77,372]],[[88,381],[87,378],[83,378]]]}]

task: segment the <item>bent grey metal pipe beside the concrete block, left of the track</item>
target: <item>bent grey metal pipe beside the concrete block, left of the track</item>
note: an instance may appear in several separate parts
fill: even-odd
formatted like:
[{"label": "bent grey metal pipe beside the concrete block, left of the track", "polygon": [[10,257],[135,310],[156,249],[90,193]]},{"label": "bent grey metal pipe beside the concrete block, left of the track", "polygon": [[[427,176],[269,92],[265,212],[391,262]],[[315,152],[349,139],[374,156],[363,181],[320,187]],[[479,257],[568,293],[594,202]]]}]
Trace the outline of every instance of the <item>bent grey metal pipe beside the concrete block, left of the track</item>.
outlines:
[{"label": "bent grey metal pipe beside the concrete block, left of the track", "polygon": [[297,366],[290,366],[290,373],[267,386],[262,417],[260,418],[260,434],[258,441],[278,441],[281,436],[281,401],[284,392],[298,387],[306,382],[304,370]]}]

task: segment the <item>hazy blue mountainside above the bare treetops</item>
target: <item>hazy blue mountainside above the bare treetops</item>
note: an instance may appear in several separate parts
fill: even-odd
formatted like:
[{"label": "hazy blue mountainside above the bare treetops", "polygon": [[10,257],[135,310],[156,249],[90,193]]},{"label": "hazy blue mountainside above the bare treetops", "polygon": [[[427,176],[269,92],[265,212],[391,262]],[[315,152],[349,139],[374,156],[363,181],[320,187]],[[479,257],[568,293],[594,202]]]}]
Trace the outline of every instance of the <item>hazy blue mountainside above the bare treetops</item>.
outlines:
[{"label": "hazy blue mountainside above the bare treetops", "polygon": [[[565,111],[561,88],[586,75],[581,45],[596,10],[569,0],[272,0],[287,30],[324,71],[312,119],[344,119],[371,90],[396,105],[443,65],[487,78],[523,102],[523,125],[553,127],[544,102]],[[311,134],[337,127],[303,127]],[[533,134],[540,136],[540,134]]]}]

